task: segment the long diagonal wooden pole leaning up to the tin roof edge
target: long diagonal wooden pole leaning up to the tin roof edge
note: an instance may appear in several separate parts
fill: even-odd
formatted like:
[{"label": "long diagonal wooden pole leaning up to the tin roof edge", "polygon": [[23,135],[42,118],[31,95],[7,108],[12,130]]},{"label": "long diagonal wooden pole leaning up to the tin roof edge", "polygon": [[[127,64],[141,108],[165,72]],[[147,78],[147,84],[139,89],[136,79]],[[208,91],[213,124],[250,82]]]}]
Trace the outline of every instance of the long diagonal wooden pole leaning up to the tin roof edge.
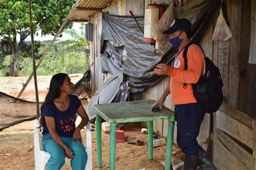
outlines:
[{"label": "long diagonal wooden pole leaning up to the tin roof edge", "polygon": [[[49,52],[52,44],[55,42],[56,38],[58,37],[59,33],[62,31],[62,29],[64,28],[66,22],[68,22],[70,15],[73,13],[73,11],[76,9],[76,6],[78,5],[78,3],[80,2],[80,0],[77,0],[77,2],[72,6],[71,11],[69,12],[69,15],[65,18],[64,22],[62,23],[62,25],[60,26],[59,30],[57,31],[56,35],[54,36],[54,38],[51,41],[51,44],[49,44],[49,46],[46,48],[46,50],[44,51],[44,54],[42,56],[42,58],[39,60],[38,64],[36,65],[36,70],[38,69],[38,67],[42,64],[44,58],[46,57],[47,53]],[[19,99],[22,96],[22,93],[24,92],[24,90],[26,89],[26,86],[28,86],[29,81],[31,80],[33,76],[33,73],[30,74],[28,80],[26,80],[26,83],[24,84],[24,86],[22,87],[22,90],[19,92],[17,98]]]}]

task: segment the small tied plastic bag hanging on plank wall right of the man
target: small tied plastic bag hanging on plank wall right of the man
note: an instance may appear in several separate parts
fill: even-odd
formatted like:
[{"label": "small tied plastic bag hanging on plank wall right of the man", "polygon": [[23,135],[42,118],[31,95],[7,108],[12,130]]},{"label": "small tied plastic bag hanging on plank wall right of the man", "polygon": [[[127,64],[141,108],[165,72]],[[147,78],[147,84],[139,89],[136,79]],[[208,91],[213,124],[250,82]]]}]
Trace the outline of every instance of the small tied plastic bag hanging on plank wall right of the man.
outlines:
[{"label": "small tied plastic bag hanging on plank wall right of the man", "polygon": [[225,42],[231,37],[232,37],[232,32],[230,30],[230,27],[227,25],[225,18],[223,17],[223,11],[220,9],[220,15],[217,19],[212,40],[216,42]]}]

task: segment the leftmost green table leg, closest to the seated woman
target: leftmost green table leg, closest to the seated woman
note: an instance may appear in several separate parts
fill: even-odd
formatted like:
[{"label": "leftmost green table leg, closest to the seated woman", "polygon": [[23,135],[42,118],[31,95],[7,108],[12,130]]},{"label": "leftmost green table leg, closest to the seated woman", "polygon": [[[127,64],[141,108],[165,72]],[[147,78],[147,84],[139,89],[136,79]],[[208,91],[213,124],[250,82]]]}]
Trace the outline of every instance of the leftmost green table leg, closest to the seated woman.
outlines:
[{"label": "leftmost green table leg, closest to the seated woman", "polygon": [[97,167],[102,168],[102,118],[96,114]]}]

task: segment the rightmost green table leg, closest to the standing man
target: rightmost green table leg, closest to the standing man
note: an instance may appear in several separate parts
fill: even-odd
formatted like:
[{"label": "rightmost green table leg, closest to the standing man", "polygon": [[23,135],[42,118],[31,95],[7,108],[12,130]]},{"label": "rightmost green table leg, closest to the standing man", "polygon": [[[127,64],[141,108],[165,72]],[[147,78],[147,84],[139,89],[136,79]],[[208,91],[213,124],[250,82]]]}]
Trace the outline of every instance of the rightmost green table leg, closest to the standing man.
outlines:
[{"label": "rightmost green table leg, closest to the standing man", "polygon": [[166,146],[166,156],[165,156],[165,170],[169,170],[171,167],[174,122],[175,122],[175,117],[174,117],[174,115],[171,115],[169,118],[169,124],[168,124],[167,146]]}]

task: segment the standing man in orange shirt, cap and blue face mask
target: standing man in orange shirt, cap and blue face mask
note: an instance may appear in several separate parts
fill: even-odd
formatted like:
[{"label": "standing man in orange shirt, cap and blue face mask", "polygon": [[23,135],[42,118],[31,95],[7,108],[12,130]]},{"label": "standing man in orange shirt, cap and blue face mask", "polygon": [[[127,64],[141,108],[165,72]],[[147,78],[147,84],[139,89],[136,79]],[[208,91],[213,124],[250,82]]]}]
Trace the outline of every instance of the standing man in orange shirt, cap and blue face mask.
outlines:
[{"label": "standing man in orange shirt, cap and blue face mask", "polygon": [[[163,32],[169,36],[169,42],[179,51],[172,66],[158,64],[154,72],[158,75],[170,76],[170,82],[161,97],[152,105],[163,107],[165,98],[171,93],[174,113],[177,121],[177,143],[185,153],[184,169],[215,169],[203,148],[198,145],[197,136],[205,112],[193,95],[192,85],[203,75],[205,56],[200,46],[191,44],[187,50],[187,69],[183,52],[190,44],[191,23],[187,19],[176,19],[170,28]],[[204,159],[202,158],[204,157]]]}]

